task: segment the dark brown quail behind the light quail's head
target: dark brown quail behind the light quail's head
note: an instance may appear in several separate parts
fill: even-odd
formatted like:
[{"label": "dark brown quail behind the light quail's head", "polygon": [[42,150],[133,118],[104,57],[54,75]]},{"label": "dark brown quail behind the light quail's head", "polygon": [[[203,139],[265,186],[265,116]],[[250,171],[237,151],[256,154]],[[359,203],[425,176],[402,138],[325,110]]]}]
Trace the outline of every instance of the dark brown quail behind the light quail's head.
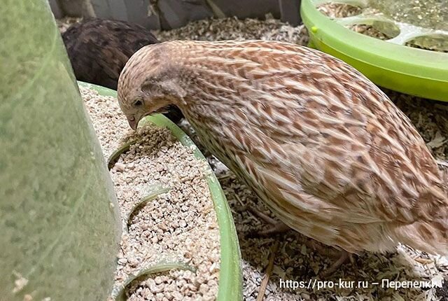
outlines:
[{"label": "dark brown quail behind the light quail's head", "polygon": [[[127,60],[144,45],[159,43],[151,31],[118,20],[90,19],[72,25],[62,34],[77,80],[117,90]],[[177,123],[176,107],[165,114]]]}]

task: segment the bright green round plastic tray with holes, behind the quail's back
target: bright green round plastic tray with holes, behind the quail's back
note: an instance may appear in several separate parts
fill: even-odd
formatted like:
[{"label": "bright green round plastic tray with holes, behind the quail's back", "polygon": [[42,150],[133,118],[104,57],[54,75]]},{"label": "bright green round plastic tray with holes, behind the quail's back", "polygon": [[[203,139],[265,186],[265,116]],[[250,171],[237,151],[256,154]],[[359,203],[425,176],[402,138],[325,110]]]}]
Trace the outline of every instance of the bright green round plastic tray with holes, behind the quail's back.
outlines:
[{"label": "bright green round plastic tray with holes, behind the quail's back", "polygon": [[[344,60],[377,85],[448,102],[448,54],[404,45],[419,36],[440,36],[440,33],[444,36],[446,31],[423,29],[367,15],[331,19],[316,9],[318,5],[328,2],[365,5],[365,1],[302,0],[300,13],[309,29],[311,47]],[[393,23],[400,34],[381,41],[344,27],[372,25],[375,21]]]}]

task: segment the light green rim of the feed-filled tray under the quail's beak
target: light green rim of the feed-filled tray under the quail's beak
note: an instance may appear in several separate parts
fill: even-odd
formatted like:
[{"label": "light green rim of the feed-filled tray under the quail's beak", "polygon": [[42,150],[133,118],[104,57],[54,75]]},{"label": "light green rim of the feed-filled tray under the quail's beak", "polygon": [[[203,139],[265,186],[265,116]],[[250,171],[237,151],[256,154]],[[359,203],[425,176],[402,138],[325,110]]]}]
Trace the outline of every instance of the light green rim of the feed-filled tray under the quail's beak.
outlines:
[{"label": "light green rim of the feed-filled tray under the quail's beak", "polygon": [[[99,85],[92,85],[90,83],[78,82],[78,85],[83,87],[89,87],[96,90],[103,96],[117,97],[117,92],[110,90],[106,87]],[[172,123],[171,120],[161,114],[155,116],[148,116],[141,120],[140,125],[144,123],[152,123],[158,127],[166,127],[171,130],[176,139],[181,141],[184,146],[195,146],[193,141],[188,135],[181,130],[177,125]],[[125,151],[126,148],[120,148],[121,151]],[[199,148],[194,147],[194,155],[200,160],[206,160],[204,155],[199,151]],[[239,251],[239,243],[237,237],[237,231],[235,230],[235,224],[233,223],[232,212],[230,211],[228,202],[225,198],[221,185],[216,179],[214,172],[209,167],[209,172],[206,173],[207,182],[211,192],[211,198],[214,202],[214,208],[216,216],[218,218],[219,231],[221,236],[221,267],[219,274],[219,288],[218,288],[218,301],[227,300],[242,300],[242,274],[241,274],[241,252]],[[166,265],[165,270],[172,269],[171,265]],[[182,267],[179,267],[182,268]],[[143,271],[144,274],[151,274],[151,272],[160,272],[163,270],[163,265],[151,269],[149,271]],[[118,298],[118,300],[120,300]]]}]

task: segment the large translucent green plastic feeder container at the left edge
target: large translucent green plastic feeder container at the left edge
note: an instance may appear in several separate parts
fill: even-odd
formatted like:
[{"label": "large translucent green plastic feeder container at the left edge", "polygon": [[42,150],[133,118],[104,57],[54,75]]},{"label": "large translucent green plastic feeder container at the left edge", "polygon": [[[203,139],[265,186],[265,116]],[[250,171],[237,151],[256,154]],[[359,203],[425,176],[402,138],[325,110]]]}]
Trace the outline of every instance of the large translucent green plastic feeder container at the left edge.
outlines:
[{"label": "large translucent green plastic feeder container at the left edge", "polygon": [[0,300],[106,300],[121,221],[47,0],[0,6]]}]

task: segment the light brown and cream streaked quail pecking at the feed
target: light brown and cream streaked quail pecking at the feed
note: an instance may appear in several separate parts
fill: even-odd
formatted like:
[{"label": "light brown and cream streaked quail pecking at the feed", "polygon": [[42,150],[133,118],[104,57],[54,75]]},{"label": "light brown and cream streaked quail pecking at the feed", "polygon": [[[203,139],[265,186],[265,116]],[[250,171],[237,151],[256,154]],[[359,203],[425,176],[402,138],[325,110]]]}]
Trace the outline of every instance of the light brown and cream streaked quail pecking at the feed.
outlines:
[{"label": "light brown and cream streaked quail pecking at the feed", "polygon": [[[352,253],[448,253],[447,183],[409,119],[323,52],[274,41],[147,46],[118,83],[135,127],[179,106],[281,221]],[[143,104],[134,106],[136,99]]]}]

